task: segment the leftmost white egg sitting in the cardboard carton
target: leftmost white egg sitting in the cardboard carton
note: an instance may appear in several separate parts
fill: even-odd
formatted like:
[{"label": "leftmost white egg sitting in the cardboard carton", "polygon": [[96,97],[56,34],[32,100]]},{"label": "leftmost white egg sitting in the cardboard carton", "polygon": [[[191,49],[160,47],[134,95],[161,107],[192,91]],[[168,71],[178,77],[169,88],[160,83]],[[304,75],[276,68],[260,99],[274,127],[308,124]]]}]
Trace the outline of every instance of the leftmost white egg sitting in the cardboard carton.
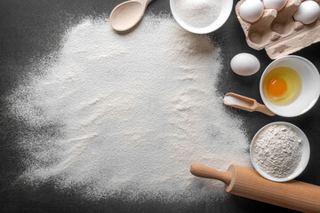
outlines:
[{"label": "leftmost white egg sitting in the cardboard carton", "polygon": [[263,4],[260,0],[246,0],[239,8],[240,17],[250,23],[260,19],[263,14]]}]

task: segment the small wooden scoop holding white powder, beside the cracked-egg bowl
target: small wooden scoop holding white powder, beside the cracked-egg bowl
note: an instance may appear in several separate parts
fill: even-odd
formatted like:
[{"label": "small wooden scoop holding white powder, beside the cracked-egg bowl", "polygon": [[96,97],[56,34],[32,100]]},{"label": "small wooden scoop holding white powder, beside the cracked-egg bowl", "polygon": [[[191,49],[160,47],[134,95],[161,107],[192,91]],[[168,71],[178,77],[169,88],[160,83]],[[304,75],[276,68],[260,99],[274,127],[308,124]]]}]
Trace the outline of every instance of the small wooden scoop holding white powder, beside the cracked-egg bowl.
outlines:
[{"label": "small wooden scoop holding white powder, beside the cracked-egg bowl", "polygon": [[[228,103],[225,98],[227,96],[230,96],[230,97],[234,97],[238,100],[239,104],[233,104],[233,103]],[[268,114],[269,116],[274,116],[276,114],[274,114],[273,112],[271,112],[267,106],[265,105],[262,105],[260,103],[257,102],[257,100],[255,99],[250,99],[248,97],[245,97],[245,96],[242,96],[242,95],[238,95],[236,93],[233,93],[233,92],[228,92],[224,98],[223,98],[223,103],[227,106],[233,106],[233,107],[236,107],[236,108],[239,108],[239,109],[243,109],[245,111],[248,111],[248,112],[253,112],[253,111],[258,111],[260,113],[263,113],[263,114]],[[243,103],[242,105],[240,105],[241,103]]]}]

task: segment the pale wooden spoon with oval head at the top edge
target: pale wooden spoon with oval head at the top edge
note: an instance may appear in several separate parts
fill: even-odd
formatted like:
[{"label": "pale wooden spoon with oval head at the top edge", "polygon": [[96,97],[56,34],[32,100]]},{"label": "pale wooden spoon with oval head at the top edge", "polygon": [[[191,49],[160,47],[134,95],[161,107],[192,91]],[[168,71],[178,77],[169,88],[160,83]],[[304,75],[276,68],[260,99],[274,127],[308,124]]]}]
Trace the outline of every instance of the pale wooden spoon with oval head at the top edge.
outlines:
[{"label": "pale wooden spoon with oval head at the top edge", "polygon": [[118,4],[110,14],[110,25],[118,32],[125,32],[142,19],[152,0],[132,0]]}]

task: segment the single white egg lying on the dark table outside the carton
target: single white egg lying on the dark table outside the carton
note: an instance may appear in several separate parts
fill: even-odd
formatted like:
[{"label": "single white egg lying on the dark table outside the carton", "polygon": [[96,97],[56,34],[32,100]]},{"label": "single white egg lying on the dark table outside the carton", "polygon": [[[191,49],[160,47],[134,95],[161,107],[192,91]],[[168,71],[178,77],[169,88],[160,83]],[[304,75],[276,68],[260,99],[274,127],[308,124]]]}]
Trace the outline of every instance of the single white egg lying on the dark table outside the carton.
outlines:
[{"label": "single white egg lying on the dark table outside the carton", "polygon": [[249,53],[239,53],[230,62],[232,70],[237,75],[253,75],[260,69],[260,61]]}]

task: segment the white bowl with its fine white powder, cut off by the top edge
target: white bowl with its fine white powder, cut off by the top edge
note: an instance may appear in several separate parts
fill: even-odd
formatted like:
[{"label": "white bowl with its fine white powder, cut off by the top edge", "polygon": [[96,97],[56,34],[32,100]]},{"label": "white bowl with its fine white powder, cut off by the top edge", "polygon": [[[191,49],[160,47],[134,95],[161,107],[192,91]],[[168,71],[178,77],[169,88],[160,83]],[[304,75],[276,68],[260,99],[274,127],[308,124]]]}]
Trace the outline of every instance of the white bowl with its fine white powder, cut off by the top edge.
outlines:
[{"label": "white bowl with its fine white powder, cut off by the top edge", "polygon": [[233,0],[170,0],[173,18],[191,33],[207,34],[220,28],[232,11]]}]

